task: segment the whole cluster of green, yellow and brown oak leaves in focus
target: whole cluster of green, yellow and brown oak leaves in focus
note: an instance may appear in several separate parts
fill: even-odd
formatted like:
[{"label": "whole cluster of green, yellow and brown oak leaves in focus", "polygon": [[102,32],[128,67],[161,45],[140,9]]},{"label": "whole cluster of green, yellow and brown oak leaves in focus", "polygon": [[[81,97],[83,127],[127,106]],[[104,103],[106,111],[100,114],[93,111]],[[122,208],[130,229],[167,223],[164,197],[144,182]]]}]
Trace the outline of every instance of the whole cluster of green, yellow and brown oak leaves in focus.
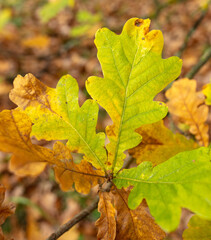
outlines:
[{"label": "whole cluster of green, yellow and brown oak leaves in focus", "polygon": [[[15,174],[36,176],[51,165],[64,191],[74,186],[87,194],[99,184],[98,239],[164,239],[163,230],[178,226],[182,207],[211,220],[208,107],[193,80],[179,80],[167,91],[169,110],[204,147],[164,127],[168,108],[154,98],[179,76],[182,61],[162,58],[163,35],[149,26],[149,19],[132,18],[120,35],[97,31],[103,77],[87,79],[92,99],[82,106],[72,76],[50,88],[27,74],[17,76],[10,92],[18,108],[0,113],[0,150],[13,153]],[[113,122],[105,133],[96,132],[98,104]],[[51,150],[33,144],[31,136],[56,142]],[[137,167],[123,169],[127,150]],[[80,163],[73,152],[83,154]]]}]

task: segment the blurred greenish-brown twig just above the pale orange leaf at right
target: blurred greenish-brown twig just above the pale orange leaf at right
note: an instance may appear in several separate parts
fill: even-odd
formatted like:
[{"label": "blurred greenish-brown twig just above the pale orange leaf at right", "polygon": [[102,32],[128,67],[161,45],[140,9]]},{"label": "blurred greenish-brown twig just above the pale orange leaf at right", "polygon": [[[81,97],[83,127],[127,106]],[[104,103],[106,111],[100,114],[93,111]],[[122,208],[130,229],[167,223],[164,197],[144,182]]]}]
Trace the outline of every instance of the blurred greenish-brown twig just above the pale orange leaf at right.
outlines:
[{"label": "blurred greenish-brown twig just above the pale orange leaf at right", "polygon": [[194,65],[191,70],[185,75],[187,78],[193,78],[202,66],[211,58],[211,46],[205,50],[199,59],[198,63]]}]

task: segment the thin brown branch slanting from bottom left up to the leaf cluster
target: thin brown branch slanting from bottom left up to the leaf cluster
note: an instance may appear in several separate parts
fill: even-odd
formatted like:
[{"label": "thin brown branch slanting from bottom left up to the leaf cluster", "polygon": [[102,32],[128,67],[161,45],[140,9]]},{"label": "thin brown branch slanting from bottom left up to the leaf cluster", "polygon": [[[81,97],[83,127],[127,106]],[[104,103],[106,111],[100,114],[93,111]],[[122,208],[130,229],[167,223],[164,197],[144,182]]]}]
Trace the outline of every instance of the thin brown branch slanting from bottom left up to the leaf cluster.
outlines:
[{"label": "thin brown branch slanting from bottom left up to the leaf cluster", "polygon": [[91,212],[93,212],[98,206],[99,198],[97,197],[94,202],[82,210],[79,214],[77,214],[74,218],[70,219],[65,224],[61,225],[54,233],[52,233],[46,240],[56,240],[62,234],[67,232],[70,228],[72,228],[75,224],[80,222],[82,219],[87,217]]}]

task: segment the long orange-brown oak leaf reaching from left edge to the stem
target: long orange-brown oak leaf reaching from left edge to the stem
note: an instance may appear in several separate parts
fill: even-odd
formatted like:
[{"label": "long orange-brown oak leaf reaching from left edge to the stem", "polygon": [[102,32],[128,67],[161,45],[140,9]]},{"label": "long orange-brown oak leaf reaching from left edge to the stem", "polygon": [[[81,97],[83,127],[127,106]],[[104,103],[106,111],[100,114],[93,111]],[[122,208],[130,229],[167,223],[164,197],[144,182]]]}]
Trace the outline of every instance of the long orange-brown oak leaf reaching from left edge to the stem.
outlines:
[{"label": "long orange-brown oak leaf reaching from left edge to the stem", "polygon": [[19,176],[40,174],[47,164],[54,167],[56,180],[63,190],[72,189],[88,193],[90,188],[103,178],[101,171],[81,161],[75,164],[69,149],[61,142],[53,150],[32,144],[30,140],[32,123],[19,109],[0,113],[0,150],[12,152],[10,170]]}]

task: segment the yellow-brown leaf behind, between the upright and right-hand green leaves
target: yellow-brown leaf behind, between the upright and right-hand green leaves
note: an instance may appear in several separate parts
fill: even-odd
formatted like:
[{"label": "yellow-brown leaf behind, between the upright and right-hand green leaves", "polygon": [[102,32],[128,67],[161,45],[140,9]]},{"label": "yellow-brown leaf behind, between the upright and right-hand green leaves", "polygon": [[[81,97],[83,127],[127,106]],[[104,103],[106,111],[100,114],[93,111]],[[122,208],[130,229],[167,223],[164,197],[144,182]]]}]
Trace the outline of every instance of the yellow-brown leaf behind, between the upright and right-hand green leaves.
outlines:
[{"label": "yellow-brown leaf behind, between the upright and right-hand green leaves", "polygon": [[179,152],[197,147],[194,141],[188,140],[185,136],[173,134],[164,126],[163,121],[143,125],[136,132],[143,139],[137,147],[130,149],[129,153],[136,159],[138,164],[150,161],[155,166],[165,162]]}]

